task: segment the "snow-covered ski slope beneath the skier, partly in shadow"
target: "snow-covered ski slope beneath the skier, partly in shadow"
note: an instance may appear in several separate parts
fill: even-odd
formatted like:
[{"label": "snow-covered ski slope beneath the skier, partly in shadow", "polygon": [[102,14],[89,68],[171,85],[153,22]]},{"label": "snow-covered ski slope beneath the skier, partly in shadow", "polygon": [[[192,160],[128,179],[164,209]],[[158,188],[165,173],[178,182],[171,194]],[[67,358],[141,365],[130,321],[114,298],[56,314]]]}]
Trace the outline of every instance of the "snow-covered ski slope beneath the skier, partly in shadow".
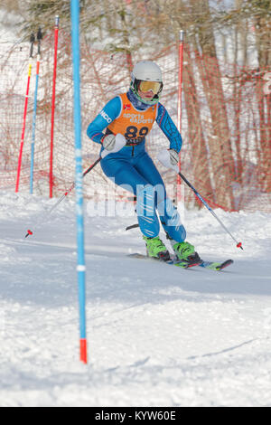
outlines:
[{"label": "snow-covered ski slope beneath the skier, partly in shadow", "polygon": [[0,196],[0,406],[271,406],[271,216],[186,212],[215,272],[128,258],[133,217],[86,216],[89,365],[79,363],[74,204]]}]

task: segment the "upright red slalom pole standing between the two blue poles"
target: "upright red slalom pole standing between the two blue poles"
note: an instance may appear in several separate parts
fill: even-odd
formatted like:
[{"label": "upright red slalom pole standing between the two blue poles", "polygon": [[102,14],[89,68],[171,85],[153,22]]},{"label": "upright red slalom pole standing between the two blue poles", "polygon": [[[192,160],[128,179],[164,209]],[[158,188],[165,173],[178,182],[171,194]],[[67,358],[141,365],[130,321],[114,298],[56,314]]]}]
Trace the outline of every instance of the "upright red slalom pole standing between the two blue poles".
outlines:
[{"label": "upright red slalom pole standing between the two blue poles", "polygon": [[51,151],[50,151],[50,172],[49,172],[49,186],[50,186],[50,198],[52,198],[53,188],[53,131],[54,131],[54,112],[55,112],[55,89],[56,89],[56,77],[57,77],[57,63],[58,63],[58,42],[59,42],[59,27],[60,17],[55,17],[54,25],[54,64],[53,64],[53,78],[52,78],[52,95],[51,95]]}]

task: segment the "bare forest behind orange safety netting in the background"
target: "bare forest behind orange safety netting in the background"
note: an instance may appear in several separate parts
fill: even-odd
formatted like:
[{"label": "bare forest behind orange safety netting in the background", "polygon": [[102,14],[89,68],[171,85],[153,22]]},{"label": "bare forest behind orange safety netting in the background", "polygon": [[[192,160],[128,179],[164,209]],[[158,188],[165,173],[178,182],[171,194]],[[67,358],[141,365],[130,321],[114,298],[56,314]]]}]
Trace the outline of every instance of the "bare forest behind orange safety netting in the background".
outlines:
[{"label": "bare forest behind orange safety netting in the background", "polygon": [[[177,123],[178,47],[182,30],[185,33],[182,170],[212,206],[228,211],[270,211],[271,1],[81,0],[79,3],[84,127],[107,100],[127,89],[133,64],[141,59],[161,65],[162,103]],[[5,140],[1,143],[0,164],[5,188],[11,184],[15,172],[14,156],[21,126],[18,116],[23,115],[22,84],[25,83],[23,80],[18,85],[18,72],[14,79],[14,74],[7,77],[6,70],[20,68],[23,72],[28,63],[30,33],[41,27],[44,34],[35,169],[40,194],[47,191],[45,142],[50,139],[53,23],[56,14],[61,17],[54,156],[55,194],[58,194],[73,180],[70,1],[2,0],[0,10],[3,27],[14,36],[12,42],[10,35],[2,37],[5,49],[0,58],[4,82],[0,135]],[[30,111],[32,108],[30,99]],[[30,124],[28,134],[31,134]],[[89,147],[89,140],[84,137],[87,165],[97,157],[98,146]],[[154,155],[164,145],[161,132],[154,130],[148,140],[150,154]],[[29,152],[26,148],[25,185]],[[173,183],[174,178],[168,173],[167,183]],[[91,176],[89,185],[93,183],[97,194],[101,193],[99,189],[106,184],[101,172]],[[192,195],[186,196],[186,202],[188,206],[197,204]]]}]

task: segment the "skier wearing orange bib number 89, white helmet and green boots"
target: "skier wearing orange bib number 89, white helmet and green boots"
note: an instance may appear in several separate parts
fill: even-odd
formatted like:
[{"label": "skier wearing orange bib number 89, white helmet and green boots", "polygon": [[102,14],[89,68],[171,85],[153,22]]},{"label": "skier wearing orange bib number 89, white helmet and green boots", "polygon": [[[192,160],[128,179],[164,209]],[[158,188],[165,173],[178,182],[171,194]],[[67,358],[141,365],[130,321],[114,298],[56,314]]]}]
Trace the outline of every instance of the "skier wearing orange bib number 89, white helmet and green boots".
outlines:
[{"label": "skier wearing orange bib number 89, white helmet and green boots", "polygon": [[[179,162],[182,137],[159,102],[163,90],[162,71],[153,61],[139,61],[131,76],[128,92],[107,102],[89,124],[87,134],[102,145],[101,152],[104,149],[109,152],[100,162],[105,175],[136,196],[138,224],[147,255],[170,260],[170,253],[159,238],[157,211],[178,260],[187,265],[199,264],[199,255],[192,244],[185,241],[186,231],[177,209],[165,193],[162,177],[145,151],[145,137],[156,121],[170,141],[167,150],[170,164]],[[126,146],[122,145],[116,152],[121,137],[126,137]],[[113,149],[114,153],[110,154]]]}]

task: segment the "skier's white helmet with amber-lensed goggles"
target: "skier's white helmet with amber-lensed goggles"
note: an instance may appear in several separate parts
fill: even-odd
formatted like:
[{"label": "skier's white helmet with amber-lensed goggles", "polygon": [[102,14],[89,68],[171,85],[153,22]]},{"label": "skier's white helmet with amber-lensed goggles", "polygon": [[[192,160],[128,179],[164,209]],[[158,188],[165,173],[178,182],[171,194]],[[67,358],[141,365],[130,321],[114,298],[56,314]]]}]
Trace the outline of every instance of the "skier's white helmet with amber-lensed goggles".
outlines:
[{"label": "skier's white helmet with amber-lensed goggles", "polygon": [[[140,61],[135,63],[135,67],[131,74],[131,90],[135,97],[147,105],[155,105],[160,99],[160,94],[163,90],[163,76],[162,71],[153,61]],[[142,81],[151,81],[152,83],[141,85],[140,90],[152,90],[154,97],[152,99],[143,99],[138,94],[138,88]],[[144,90],[145,86],[145,90]]]}]

